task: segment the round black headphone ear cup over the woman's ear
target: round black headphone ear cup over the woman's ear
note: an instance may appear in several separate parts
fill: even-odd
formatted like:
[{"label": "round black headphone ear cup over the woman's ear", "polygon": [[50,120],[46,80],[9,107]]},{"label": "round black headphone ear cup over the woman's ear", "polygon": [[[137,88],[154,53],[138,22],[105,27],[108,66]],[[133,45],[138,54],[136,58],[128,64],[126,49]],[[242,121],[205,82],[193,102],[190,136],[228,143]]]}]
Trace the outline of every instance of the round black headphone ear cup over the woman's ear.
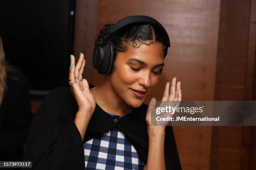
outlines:
[{"label": "round black headphone ear cup over the woman's ear", "polygon": [[108,41],[103,47],[95,46],[92,56],[93,66],[100,74],[106,75],[111,73],[114,60],[114,48],[111,41]]}]

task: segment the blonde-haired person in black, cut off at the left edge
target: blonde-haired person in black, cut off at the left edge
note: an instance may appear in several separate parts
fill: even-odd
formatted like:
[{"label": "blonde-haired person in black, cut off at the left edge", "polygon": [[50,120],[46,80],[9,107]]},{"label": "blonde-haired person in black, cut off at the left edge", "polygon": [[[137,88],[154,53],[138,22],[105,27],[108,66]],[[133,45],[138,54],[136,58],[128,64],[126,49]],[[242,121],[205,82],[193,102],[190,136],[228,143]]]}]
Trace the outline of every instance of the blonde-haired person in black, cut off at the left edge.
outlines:
[{"label": "blonde-haired person in black, cut off at the left edge", "polygon": [[22,160],[23,146],[31,121],[28,80],[22,72],[5,61],[3,42],[0,37],[1,161]]}]

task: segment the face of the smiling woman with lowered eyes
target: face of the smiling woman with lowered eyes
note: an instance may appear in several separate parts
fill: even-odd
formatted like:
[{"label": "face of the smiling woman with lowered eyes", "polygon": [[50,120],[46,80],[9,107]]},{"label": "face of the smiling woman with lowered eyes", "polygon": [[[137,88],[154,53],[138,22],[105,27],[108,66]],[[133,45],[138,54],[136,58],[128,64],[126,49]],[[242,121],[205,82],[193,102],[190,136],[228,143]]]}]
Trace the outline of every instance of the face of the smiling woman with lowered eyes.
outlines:
[{"label": "face of the smiling woman with lowered eyes", "polygon": [[126,52],[118,53],[116,70],[110,82],[117,95],[128,105],[135,108],[141,106],[151,88],[157,85],[159,72],[164,67],[163,49],[160,42],[141,44],[138,48],[132,47],[131,43]]}]

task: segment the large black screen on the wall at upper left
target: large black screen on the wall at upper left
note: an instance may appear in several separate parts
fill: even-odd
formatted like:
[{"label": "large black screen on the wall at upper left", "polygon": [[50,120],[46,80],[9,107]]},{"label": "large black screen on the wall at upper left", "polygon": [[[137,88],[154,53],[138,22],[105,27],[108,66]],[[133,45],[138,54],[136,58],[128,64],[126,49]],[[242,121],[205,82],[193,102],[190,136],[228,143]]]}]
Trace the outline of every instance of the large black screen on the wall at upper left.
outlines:
[{"label": "large black screen on the wall at upper left", "polygon": [[28,77],[31,94],[66,86],[73,50],[74,0],[5,0],[0,35],[7,61]]}]

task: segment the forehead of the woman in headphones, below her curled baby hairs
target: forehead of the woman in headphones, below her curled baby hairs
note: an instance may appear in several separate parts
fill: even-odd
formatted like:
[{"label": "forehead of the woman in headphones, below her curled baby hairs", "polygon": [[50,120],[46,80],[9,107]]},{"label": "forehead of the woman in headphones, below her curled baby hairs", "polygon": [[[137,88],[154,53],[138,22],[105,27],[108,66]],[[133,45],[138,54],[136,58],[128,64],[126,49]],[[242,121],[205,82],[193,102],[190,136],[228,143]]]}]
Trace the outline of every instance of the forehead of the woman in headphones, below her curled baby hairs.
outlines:
[{"label": "forehead of the woman in headphones, below her curled baby hairs", "polygon": [[138,42],[137,47],[133,47],[133,42],[129,43],[127,51],[120,53],[123,56],[120,58],[123,60],[137,58],[146,63],[153,62],[154,64],[164,62],[164,45],[162,43],[152,43],[151,41]]}]

